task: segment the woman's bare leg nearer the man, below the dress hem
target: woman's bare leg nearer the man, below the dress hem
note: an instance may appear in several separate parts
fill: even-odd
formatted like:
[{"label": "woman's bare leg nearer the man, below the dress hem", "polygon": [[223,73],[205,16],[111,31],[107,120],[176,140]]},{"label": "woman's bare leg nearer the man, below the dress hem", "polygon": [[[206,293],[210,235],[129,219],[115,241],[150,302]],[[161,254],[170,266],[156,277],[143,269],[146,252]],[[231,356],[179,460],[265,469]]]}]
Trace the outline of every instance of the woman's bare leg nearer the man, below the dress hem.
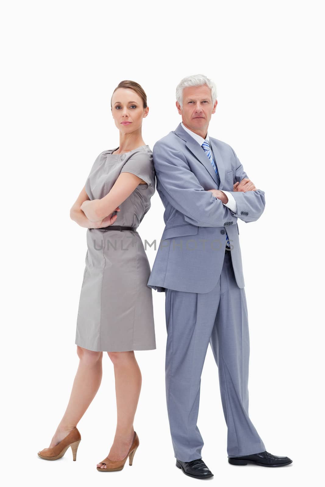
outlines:
[{"label": "woman's bare leg nearer the man, below the dress hem", "polygon": [[[126,457],[134,439],[134,414],[141,390],[141,372],[134,352],[108,352],[114,364],[117,424],[110,460]],[[97,467],[106,468],[102,463]]]}]

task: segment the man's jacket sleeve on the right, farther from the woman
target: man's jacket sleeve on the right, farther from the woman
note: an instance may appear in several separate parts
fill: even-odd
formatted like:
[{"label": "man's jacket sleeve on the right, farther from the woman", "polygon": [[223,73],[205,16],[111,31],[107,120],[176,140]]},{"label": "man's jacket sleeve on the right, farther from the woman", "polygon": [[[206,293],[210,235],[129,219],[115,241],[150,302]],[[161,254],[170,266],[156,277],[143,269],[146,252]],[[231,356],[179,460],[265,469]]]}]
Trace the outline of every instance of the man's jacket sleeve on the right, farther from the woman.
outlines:
[{"label": "man's jacket sleeve on the right, farther from the woman", "polygon": [[[230,146],[229,146],[230,147]],[[238,159],[235,151],[231,148],[235,164],[235,178],[234,183],[248,178],[244,171],[243,165]],[[233,164],[233,161],[232,161]],[[245,223],[255,222],[263,213],[265,208],[265,192],[262,189],[255,189],[255,191],[229,191],[234,197],[237,205],[236,212],[230,210],[232,216],[240,218]]]}]

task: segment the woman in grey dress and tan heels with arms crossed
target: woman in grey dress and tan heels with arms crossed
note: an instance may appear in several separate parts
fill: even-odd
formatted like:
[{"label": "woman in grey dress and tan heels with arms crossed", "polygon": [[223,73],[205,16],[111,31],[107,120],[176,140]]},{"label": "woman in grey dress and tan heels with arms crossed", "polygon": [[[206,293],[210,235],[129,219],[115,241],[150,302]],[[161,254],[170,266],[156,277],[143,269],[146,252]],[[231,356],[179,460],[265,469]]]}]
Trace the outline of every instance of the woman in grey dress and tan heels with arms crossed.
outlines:
[{"label": "woman in grey dress and tan heels with arms crossed", "polygon": [[132,465],[139,444],[133,421],[141,389],[134,350],[156,348],[152,289],[147,286],[150,265],[136,231],[155,191],[152,151],[141,135],[149,112],[146,94],[138,83],[121,81],[111,110],[119,146],[98,155],[70,211],[78,225],[88,228],[76,324],[79,367],[51,444],[38,452],[56,460],[71,446],[76,460],[81,439],[76,425],[98,391],[105,351],[114,364],[117,425],[111,450],[97,464],[101,472],[121,470],[128,457]]}]

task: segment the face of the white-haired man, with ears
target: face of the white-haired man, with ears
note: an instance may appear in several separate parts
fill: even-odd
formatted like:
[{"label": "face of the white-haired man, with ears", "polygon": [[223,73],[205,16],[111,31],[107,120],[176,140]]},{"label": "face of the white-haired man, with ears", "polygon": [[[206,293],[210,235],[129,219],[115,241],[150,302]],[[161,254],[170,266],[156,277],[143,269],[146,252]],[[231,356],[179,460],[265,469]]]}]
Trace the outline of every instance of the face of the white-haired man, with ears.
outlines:
[{"label": "face of the white-haired man, with ears", "polygon": [[189,86],[183,90],[183,108],[178,101],[176,107],[185,127],[205,138],[217,103],[215,100],[212,105],[211,90],[207,85]]}]

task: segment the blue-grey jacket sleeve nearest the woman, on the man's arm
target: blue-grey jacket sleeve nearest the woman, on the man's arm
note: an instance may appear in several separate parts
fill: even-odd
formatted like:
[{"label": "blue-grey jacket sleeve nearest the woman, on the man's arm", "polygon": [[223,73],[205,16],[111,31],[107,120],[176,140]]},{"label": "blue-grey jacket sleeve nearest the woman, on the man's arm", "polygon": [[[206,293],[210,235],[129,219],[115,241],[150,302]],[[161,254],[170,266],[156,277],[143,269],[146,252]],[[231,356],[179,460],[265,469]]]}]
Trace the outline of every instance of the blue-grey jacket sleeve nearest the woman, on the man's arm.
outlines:
[{"label": "blue-grey jacket sleeve nearest the woman, on the man's arm", "polygon": [[219,227],[226,222],[236,223],[237,217],[229,208],[200,185],[182,152],[158,141],[153,146],[153,165],[166,200],[191,225]]}]

